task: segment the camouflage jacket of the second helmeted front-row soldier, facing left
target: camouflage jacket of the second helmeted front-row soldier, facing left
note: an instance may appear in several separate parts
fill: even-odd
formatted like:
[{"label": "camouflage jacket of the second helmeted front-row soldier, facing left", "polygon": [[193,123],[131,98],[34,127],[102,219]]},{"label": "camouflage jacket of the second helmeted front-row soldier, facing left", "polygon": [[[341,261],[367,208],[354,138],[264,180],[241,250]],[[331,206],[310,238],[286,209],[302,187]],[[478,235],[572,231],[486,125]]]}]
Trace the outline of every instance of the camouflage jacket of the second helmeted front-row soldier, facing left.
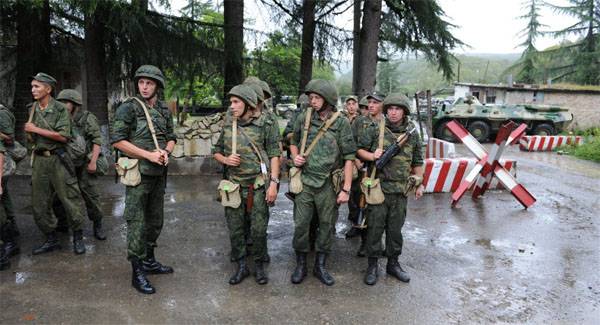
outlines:
[{"label": "camouflage jacket of the second helmeted front-row soldier, facing left", "polygon": [[[219,140],[213,148],[213,154],[231,155],[232,125],[233,119],[231,116],[227,116]],[[270,167],[270,158],[281,155],[279,126],[269,118],[268,114],[254,116],[246,122],[238,120],[236,151],[240,155],[241,163],[237,167],[225,166],[225,175],[232,182],[242,186],[253,184],[257,176],[261,174],[260,159],[254,152],[250,140],[257,146],[267,168]]]}]

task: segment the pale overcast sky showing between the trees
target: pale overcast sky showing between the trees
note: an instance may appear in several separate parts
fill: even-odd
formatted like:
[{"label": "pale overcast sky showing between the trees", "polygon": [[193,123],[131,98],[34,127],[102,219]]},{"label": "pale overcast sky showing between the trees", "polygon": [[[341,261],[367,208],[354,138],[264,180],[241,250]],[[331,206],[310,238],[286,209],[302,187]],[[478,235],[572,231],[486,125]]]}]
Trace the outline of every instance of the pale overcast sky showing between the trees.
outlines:
[{"label": "pale overcast sky showing between the trees", "polygon": [[[241,0],[240,0],[241,1]],[[547,0],[556,5],[565,5],[567,0]],[[187,0],[171,0],[171,13],[177,15],[179,9]],[[519,53],[523,49],[517,48],[523,39],[517,34],[526,26],[525,20],[517,19],[526,13],[522,0],[438,0],[446,12],[448,20],[457,25],[452,30],[453,34],[468,44],[470,47],[456,49],[457,53]],[[270,21],[267,9],[260,0],[244,1],[244,17],[254,20],[254,29],[270,32],[278,26]],[[574,23],[571,17],[554,13],[548,8],[541,11],[541,23],[548,25],[545,30],[558,30]],[[336,25],[352,29],[352,9],[345,15],[337,17]],[[573,37],[570,37],[573,39]],[[249,42],[247,40],[247,42]],[[261,40],[247,44],[252,48]],[[538,49],[559,43],[560,40],[552,37],[541,37],[536,42]]]}]

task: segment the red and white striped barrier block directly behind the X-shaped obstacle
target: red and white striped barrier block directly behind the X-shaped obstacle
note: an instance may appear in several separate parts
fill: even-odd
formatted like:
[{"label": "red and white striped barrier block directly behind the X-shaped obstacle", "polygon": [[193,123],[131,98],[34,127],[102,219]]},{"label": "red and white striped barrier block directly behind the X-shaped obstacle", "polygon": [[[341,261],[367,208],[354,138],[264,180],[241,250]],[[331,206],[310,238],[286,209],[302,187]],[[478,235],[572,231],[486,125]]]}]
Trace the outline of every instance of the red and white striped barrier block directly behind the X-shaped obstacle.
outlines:
[{"label": "red and white striped barrier block directly behind the X-shaped obstacle", "polygon": [[[465,177],[477,165],[475,158],[425,159],[423,186],[425,193],[449,193],[458,189]],[[517,177],[517,162],[512,159],[501,159],[504,167],[513,177]],[[489,188],[504,189],[496,177],[491,179]]]}]

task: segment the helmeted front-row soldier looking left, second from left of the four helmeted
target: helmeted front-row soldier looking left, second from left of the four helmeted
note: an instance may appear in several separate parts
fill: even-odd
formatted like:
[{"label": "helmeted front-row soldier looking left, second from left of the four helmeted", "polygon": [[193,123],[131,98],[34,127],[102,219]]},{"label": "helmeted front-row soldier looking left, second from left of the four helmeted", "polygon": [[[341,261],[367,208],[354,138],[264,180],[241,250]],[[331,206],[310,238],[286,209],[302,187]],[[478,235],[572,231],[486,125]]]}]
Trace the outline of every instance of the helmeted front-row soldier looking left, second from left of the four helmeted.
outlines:
[{"label": "helmeted front-row soldier looking left, second from left of the four helmeted", "polygon": [[[279,128],[267,115],[256,110],[256,93],[249,85],[237,85],[227,96],[231,102],[231,118],[223,125],[214,148],[214,158],[225,166],[228,181],[240,186],[241,204],[238,207],[225,207],[231,257],[237,263],[229,284],[238,284],[250,274],[246,264],[246,256],[249,254],[244,236],[244,219],[248,216],[252,219],[250,236],[253,241],[256,282],[266,284],[268,277],[263,263],[267,256],[267,205],[273,204],[277,198],[281,155]],[[234,120],[239,124],[235,135],[232,127]],[[235,148],[234,137],[239,144]],[[270,176],[266,169],[267,163],[270,166]]]}]

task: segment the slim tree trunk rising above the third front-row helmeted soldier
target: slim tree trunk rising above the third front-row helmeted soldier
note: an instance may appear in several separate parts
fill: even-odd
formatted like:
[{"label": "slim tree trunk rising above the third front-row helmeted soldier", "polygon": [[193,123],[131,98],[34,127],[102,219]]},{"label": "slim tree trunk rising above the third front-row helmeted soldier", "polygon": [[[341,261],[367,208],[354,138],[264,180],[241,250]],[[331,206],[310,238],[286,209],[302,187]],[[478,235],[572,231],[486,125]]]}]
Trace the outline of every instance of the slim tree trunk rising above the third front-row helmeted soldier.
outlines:
[{"label": "slim tree trunk rising above the third front-row helmeted soldier", "polygon": [[298,92],[302,93],[306,84],[312,79],[313,52],[315,40],[315,0],[304,0],[302,5],[302,54],[300,55],[300,84]]}]

